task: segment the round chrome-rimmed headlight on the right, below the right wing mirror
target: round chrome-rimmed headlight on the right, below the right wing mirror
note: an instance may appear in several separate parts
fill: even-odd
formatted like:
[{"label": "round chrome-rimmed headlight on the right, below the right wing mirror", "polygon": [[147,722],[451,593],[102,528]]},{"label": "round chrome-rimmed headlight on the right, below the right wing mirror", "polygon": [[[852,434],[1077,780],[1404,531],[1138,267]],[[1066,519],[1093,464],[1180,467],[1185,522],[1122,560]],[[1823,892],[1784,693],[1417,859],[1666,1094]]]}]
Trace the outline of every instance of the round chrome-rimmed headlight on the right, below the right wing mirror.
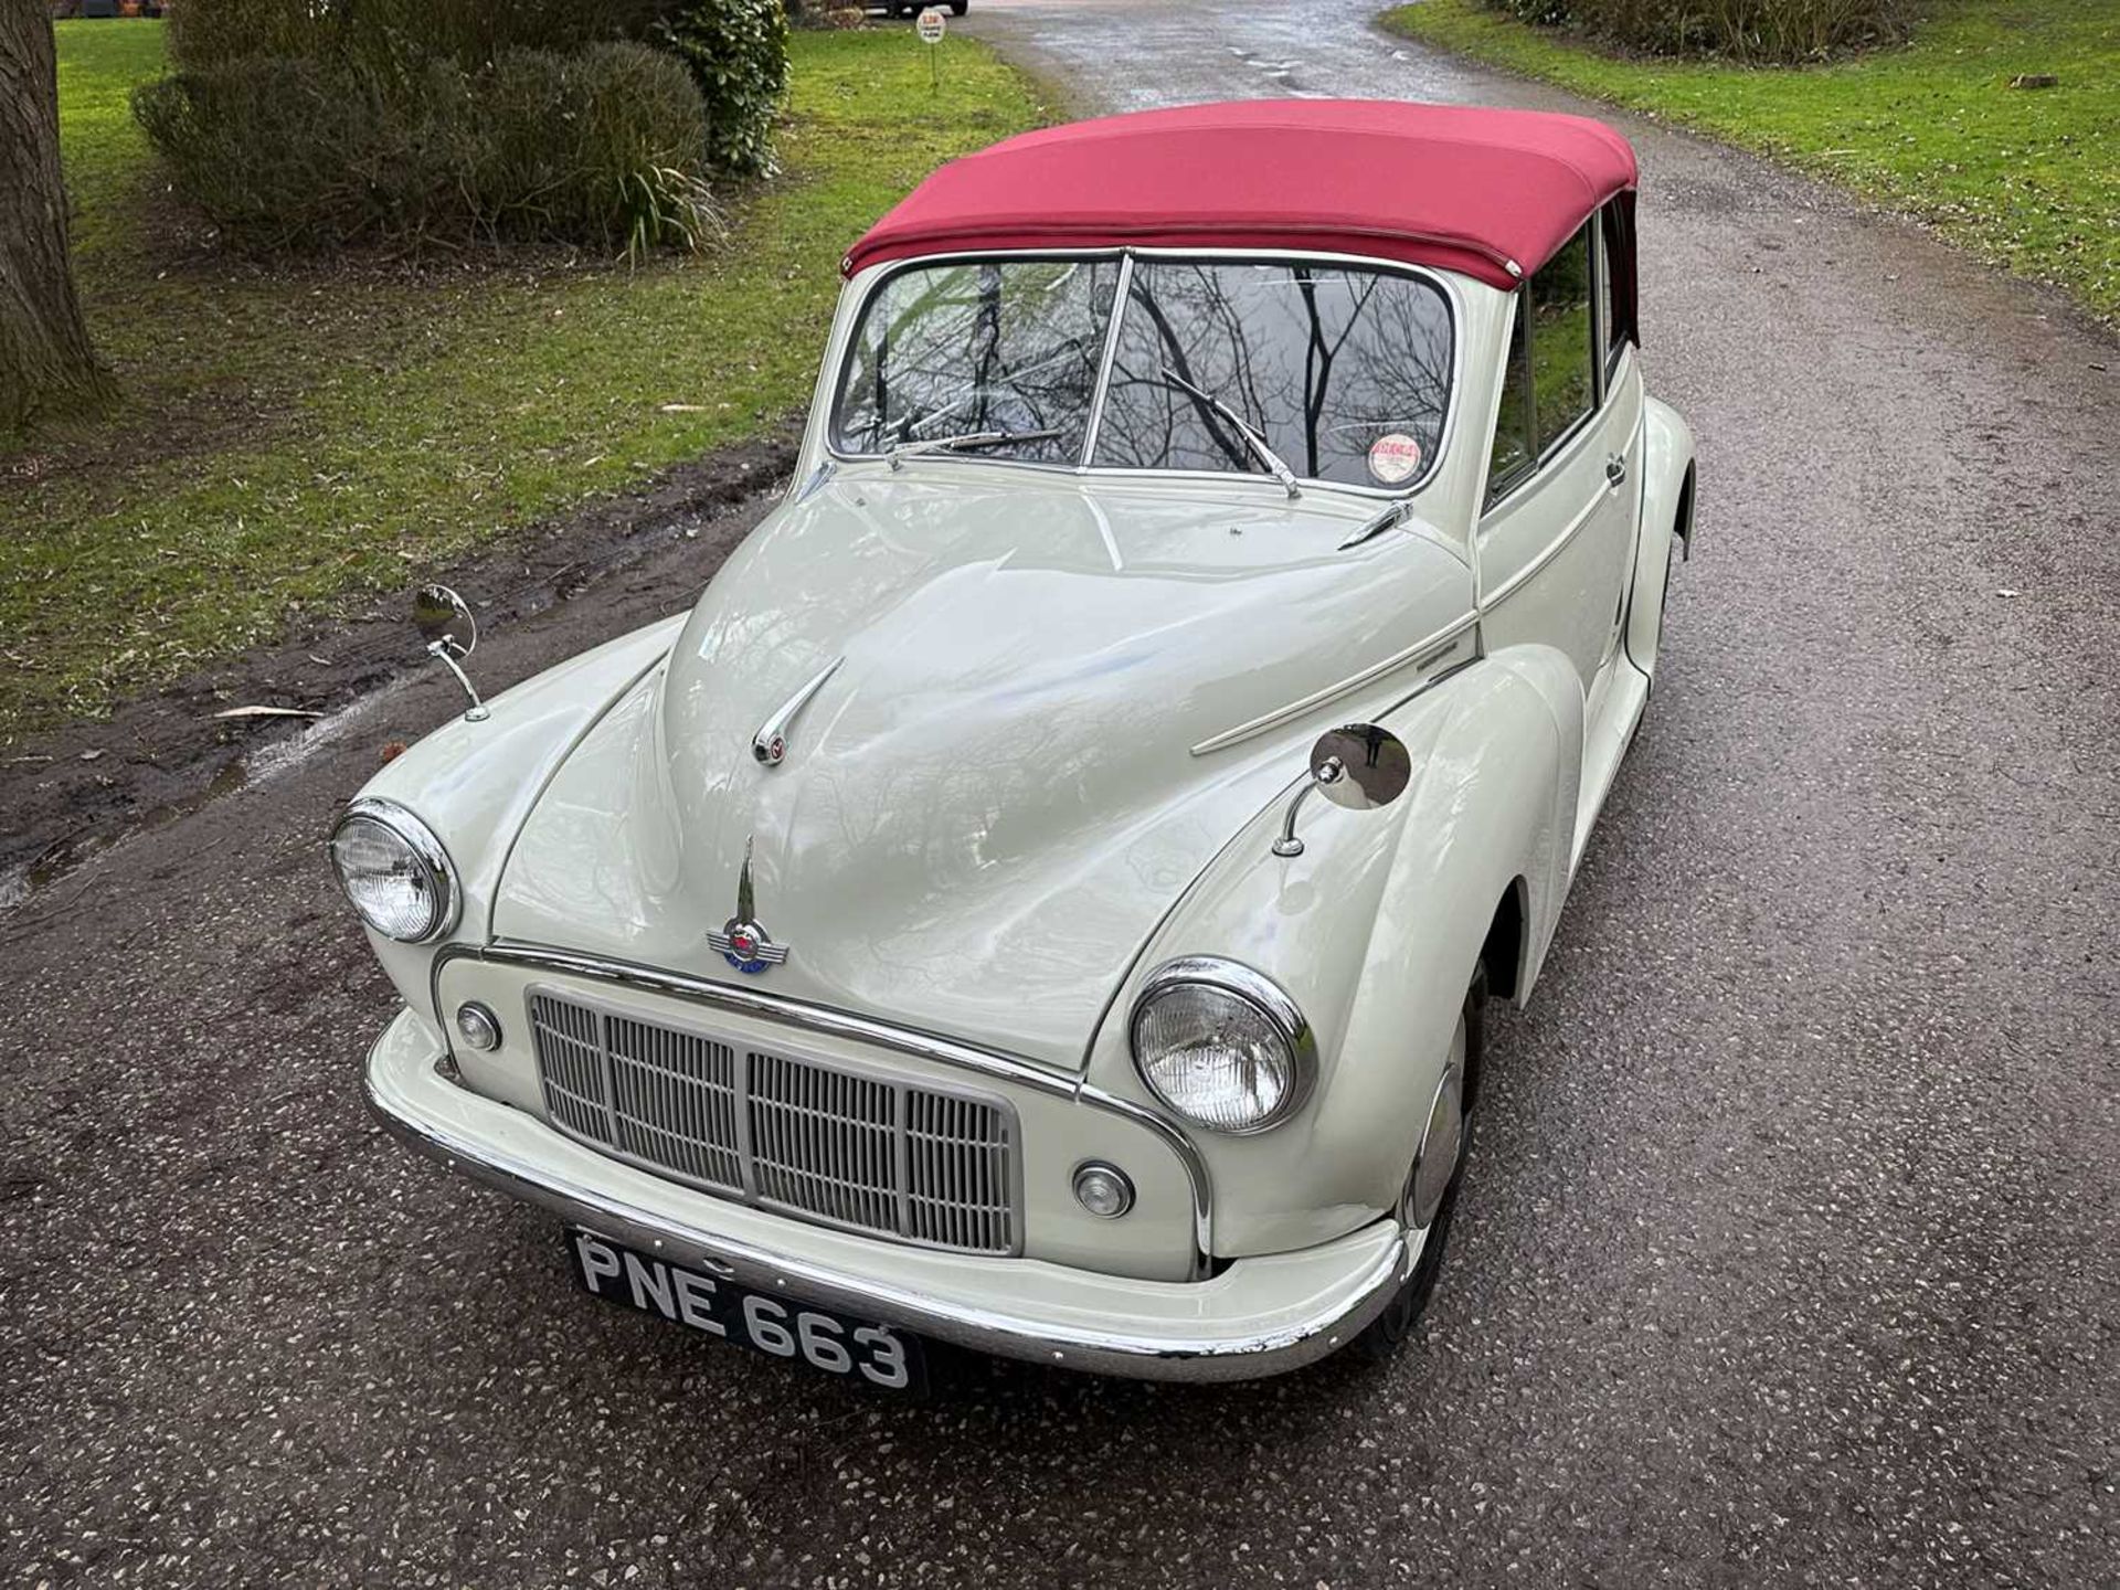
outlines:
[{"label": "round chrome-rimmed headlight on the right, below the right wing mirror", "polygon": [[1310,1094],[1317,1045],[1295,1001],[1234,960],[1160,967],[1134,1003],[1134,1066],[1166,1107],[1213,1132],[1264,1132]]}]

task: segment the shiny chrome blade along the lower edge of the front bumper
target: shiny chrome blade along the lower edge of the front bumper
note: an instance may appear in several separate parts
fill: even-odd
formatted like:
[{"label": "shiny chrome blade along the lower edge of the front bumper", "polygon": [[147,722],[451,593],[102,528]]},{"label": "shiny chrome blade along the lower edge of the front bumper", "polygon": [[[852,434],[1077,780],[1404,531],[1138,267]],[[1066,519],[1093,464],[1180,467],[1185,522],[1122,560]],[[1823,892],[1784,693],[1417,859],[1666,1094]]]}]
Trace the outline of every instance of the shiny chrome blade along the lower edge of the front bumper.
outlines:
[{"label": "shiny chrome blade along the lower edge of the front bumper", "polygon": [[[1412,1274],[1418,1247],[1397,1221],[1380,1221],[1399,1230],[1399,1240],[1384,1247],[1357,1276],[1355,1302],[1327,1304],[1293,1325],[1249,1338],[1187,1340],[1143,1338],[1119,1331],[1064,1327],[1020,1314],[986,1308],[939,1304],[909,1287],[897,1287],[871,1276],[854,1276],[806,1259],[740,1242],[717,1232],[695,1232],[676,1221],[636,1208],[619,1198],[555,1179],[528,1160],[471,1145],[426,1124],[392,1111],[375,1092],[373,1077],[365,1083],[369,1113],[405,1147],[456,1166],[511,1198],[553,1211],[564,1221],[585,1225],[602,1236],[644,1253],[683,1251],[683,1264],[693,1264],[725,1280],[763,1293],[793,1293],[854,1317],[882,1319],[893,1325],[954,1342],[977,1353],[1024,1359],[1028,1363],[1060,1363],[1090,1374],[1117,1374],[1138,1380],[1253,1380],[1302,1370],[1361,1333],[1384,1312],[1399,1285]],[[1024,1264],[1007,1259],[1005,1264]]]}]

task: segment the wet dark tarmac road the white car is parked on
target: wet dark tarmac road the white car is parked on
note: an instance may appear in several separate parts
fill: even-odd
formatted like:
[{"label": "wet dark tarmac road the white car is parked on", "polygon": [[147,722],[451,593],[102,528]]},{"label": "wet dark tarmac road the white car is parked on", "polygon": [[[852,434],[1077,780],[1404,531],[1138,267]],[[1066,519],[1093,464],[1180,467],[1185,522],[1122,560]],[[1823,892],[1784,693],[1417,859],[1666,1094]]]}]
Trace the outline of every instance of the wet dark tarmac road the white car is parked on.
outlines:
[{"label": "wet dark tarmac road the white car is parked on", "polygon": [[[1565,104],[1365,4],[1007,4],[1083,108]],[[1700,437],[1664,678],[1427,1329],[1221,1391],[905,1408],[570,1291],[384,1143],[318,835],[416,678],[0,920],[0,1537],[25,1582],[2095,1586],[2120,1562],[2116,348],[1751,159],[1643,155]],[[2097,369],[2103,365],[2105,369]],[[742,517],[481,647],[687,600]]]}]

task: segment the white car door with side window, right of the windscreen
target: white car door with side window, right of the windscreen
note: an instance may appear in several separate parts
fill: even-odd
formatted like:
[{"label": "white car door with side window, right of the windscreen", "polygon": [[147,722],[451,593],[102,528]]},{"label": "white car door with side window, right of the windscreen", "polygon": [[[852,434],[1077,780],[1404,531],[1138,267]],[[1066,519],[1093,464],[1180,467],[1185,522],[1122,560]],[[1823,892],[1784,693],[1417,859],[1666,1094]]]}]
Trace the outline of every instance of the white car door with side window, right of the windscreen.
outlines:
[{"label": "white car door with side window, right of the windscreen", "polygon": [[1620,640],[1641,469],[1641,379],[1624,343],[1607,356],[1601,278],[1592,216],[1516,293],[1476,536],[1486,647],[1565,651],[1586,700]]}]

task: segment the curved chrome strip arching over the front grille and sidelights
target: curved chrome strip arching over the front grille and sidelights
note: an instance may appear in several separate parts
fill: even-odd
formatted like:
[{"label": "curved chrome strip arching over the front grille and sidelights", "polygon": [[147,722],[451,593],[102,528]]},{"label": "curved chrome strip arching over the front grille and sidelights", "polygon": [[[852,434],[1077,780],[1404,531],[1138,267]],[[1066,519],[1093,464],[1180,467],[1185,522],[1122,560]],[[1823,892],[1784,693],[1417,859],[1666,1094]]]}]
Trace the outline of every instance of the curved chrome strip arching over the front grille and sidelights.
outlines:
[{"label": "curved chrome strip arching over the front grille and sidelights", "polygon": [[982,1049],[971,1043],[958,1043],[956,1039],[890,1026],[888,1022],[835,1011],[825,1005],[806,1005],[803,1001],[789,999],[787,994],[772,994],[759,988],[738,988],[734,984],[719,984],[706,977],[691,977],[681,971],[636,967],[625,960],[604,960],[602,956],[579,954],[575,950],[551,950],[541,943],[515,943],[509,939],[483,946],[452,943],[435,954],[435,965],[428,971],[428,1001],[435,1007],[437,1024],[443,1032],[449,1030],[449,1024],[439,1020],[441,973],[443,967],[454,960],[485,960],[496,967],[560,971],[575,977],[587,977],[589,982],[615,984],[619,988],[670,994],[674,999],[691,1001],[693,1005],[734,1011],[738,1015],[755,1015],[763,1022],[780,1022],[801,1032],[823,1032],[825,1037],[869,1043],[878,1049],[905,1054],[914,1060],[933,1060],[939,1066],[971,1071],[979,1077],[1009,1081],[1018,1088],[1028,1088],[1054,1098],[1066,1098],[1071,1102],[1088,1105],[1090,1109],[1102,1109],[1111,1115],[1130,1119],[1162,1138],[1162,1143],[1177,1155],[1179,1164],[1185,1166],[1185,1181],[1191,1185],[1194,1198],[1191,1272],[1198,1278],[1211,1268],[1211,1259],[1215,1255],[1215,1202],[1206,1160],[1200,1158],[1200,1149],[1194,1147],[1194,1141],[1185,1136],[1177,1121],[1158,1115],[1147,1105],[1136,1105],[1132,1098],[1119,1098],[1117,1094],[1105,1092],[1081,1077],[1062,1077],[996,1049]]}]

